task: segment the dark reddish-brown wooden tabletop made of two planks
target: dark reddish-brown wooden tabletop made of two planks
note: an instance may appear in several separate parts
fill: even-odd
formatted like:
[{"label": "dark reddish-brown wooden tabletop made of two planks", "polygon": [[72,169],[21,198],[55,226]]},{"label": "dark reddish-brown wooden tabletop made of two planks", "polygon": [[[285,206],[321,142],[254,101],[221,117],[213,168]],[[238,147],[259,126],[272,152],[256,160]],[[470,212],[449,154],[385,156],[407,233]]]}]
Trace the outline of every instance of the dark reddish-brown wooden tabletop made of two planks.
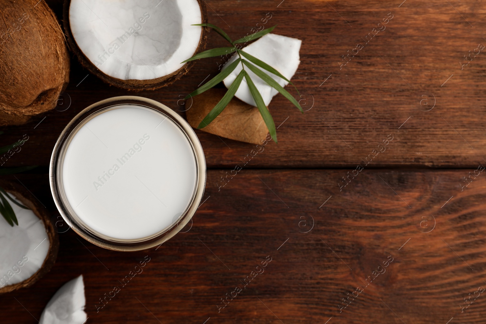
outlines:
[{"label": "dark reddish-brown wooden tabletop made of two planks", "polygon": [[[60,3],[50,4],[60,12]],[[486,287],[486,171],[476,171],[486,165],[486,53],[463,64],[486,44],[486,4],[207,5],[209,21],[233,37],[270,13],[275,33],[303,40],[293,81],[306,113],[275,97],[270,111],[279,143],[266,145],[224,187],[220,177],[254,145],[196,131],[208,181],[184,233],[158,249],[120,253],[59,226],[52,271],[30,289],[1,295],[0,322],[36,323],[54,292],[83,274],[88,323],[485,323],[486,296],[467,298]],[[342,55],[358,43],[363,48],[344,65]],[[224,43],[210,33],[208,44]],[[217,68],[216,59],[199,61],[174,85],[138,95],[184,116],[179,99]],[[29,136],[5,166],[39,165],[17,177],[54,219],[47,173],[57,136],[87,105],[127,94],[75,58],[70,80],[59,111],[7,127],[2,136],[4,143]],[[97,312],[100,298],[145,256],[143,273]],[[257,275],[257,265],[270,259]],[[244,289],[225,299],[238,286]]]}]

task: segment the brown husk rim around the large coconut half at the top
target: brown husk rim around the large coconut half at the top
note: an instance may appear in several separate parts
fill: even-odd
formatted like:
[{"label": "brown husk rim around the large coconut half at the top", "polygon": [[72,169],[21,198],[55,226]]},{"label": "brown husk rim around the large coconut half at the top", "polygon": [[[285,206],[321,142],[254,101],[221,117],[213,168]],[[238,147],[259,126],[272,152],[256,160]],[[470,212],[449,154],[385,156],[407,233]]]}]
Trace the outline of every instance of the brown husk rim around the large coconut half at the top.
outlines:
[{"label": "brown husk rim around the large coconut half at the top", "polygon": [[[208,12],[206,11],[206,4],[204,0],[198,0],[199,7],[201,8],[201,16],[202,16],[202,23],[208,23]],[[86,55],[81,51],[74,40],[74,37],[71,33],[71,27],[69,25],[69,4],[71,3],[70,0],[64,1],[63,6],[63,25],[64,31],[67,35],[68,46],[71,51],[76,54],[78,57],[79,62],[83,67],[85,67],[89,72],[96,75],[98,78],[103,80],[105,83],[109,85],[115,85],[119,88],[126,89],[126,90],[133,90],[133,91],[142,91],[142,90],[155,90],[161,88],[166,85],[170,85],[174,83],[177,79],[182,77],[184,74],[189,72],[189,69],[194,66],[196,61],[191,61],[186,63],[182,68],[179,68],[177,71],[172,72],[171,74],[165,75],[160,78],[151,79],[151,80],[121,80],[118,78],[113,78],[100,69],[98,69],[91,61],[86,57]],[[202,27],[201,38],[199,40],[199,46],[197,47],[194,54],[203,51],[206,48],[206,40],[208,39],[209,28]],[[192,55],[194,55],[192,54]]]}]

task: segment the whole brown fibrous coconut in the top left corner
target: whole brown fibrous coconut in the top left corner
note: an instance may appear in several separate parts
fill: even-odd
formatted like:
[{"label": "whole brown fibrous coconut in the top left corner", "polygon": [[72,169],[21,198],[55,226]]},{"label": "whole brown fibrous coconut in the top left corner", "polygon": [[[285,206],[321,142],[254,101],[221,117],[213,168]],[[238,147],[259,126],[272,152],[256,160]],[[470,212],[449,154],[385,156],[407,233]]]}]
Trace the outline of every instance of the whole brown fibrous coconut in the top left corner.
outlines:
[{"label": "whole brown fibrous coconut in the top left corner", "polygon": [[0,14],[0,125],[19,125],[55,107],[69,56],[45,1],[1,0]]}]

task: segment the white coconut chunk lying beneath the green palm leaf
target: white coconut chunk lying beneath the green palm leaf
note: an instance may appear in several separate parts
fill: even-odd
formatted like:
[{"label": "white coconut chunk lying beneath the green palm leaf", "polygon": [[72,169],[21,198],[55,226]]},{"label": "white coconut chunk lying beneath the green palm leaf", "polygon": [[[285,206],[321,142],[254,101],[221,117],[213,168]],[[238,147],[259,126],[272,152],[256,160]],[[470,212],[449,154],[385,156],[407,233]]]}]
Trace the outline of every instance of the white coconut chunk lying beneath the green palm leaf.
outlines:
[{"label": "white coconut chunk lying beneath the green palm leaf", "polygon": [[[243,48],[243,51],[247,52],[248,54],[255,56],[260,61],[265,62],[266,64],[270,65],[272,68],[275,68],[278,72],[280,72],[284,77],[290,80],[297,68],[300,64],[300,45],[302,41],[297,38],[277,35],[277,34],[266,34],[262,36],[260,39],[256,40],[252,44]],[[238,54],[233,55],[231,59],[225,64],[223,68],[226,68],[228,65],[233,63],[237,58]],[[243,57],[243,59],[245,59]],[[263,70],[262,68],[260,68]],[[241,64],[238,65],[237,68],[231,72],[225,80],[223,80],[224,84],[227,88],[229,88],[233,81],[235,81],[236,77],[242,70]],[[265,105],[268,106],[272,98],[278,94],[278,90],[268,85],[265,81],[261,80],[255,73],[250,71],[247,67],[245,70],[250,75],[251,80],[257,87],[258,91],[260,91],[261,97],[265,102]],[[285,86],[289,83],[282,78],[278,77],[275,74],[272,74],[266,70],[263,70],[265,73],[270,75],[275,81],[278,82],[279,85]],[[236,91],[235,96],[246,102],[251,104],[252,106],[256,106],[255,100],[250,93],[250,88],[246,84],[246,80],[243,78],[243,81]]]}]

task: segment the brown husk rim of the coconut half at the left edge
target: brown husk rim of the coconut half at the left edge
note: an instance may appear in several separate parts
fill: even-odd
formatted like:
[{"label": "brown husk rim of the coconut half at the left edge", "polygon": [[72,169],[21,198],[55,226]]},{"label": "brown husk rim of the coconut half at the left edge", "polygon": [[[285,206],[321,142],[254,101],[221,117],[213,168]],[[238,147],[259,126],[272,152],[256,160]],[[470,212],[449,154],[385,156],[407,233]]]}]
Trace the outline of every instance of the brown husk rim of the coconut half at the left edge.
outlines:
[{"label": "brown husk rim of the coconut half at the left edge", "polygon": [[21,185],[17,185],[14,182],[6,180],[0,180],[0,187],[15,196],[15,198],[17,198],[24,206],[29,207],[34,212],[35,216],[42,220],[42,222],[44,223],[44,228],[47,232],[47,237],[49,238],[49,251],[46,258],[44,259],[42,267],[40,267],[40,269],[37,270],[37,272],[34,273],[30,278],[17,284],[8,285],[0,288],[0,294],[2,294],[20,288],[30,287],[34,285],[37,280],[42,278],[44,274],[48,273],[57,258],[57,252],[59,250],[59,239],[57,237],[57,232],[52,225],[51,217],[49,216],[46,208],[40,205],[39,201],[34,197],[32,193],[30,193],[29,190]]}]

